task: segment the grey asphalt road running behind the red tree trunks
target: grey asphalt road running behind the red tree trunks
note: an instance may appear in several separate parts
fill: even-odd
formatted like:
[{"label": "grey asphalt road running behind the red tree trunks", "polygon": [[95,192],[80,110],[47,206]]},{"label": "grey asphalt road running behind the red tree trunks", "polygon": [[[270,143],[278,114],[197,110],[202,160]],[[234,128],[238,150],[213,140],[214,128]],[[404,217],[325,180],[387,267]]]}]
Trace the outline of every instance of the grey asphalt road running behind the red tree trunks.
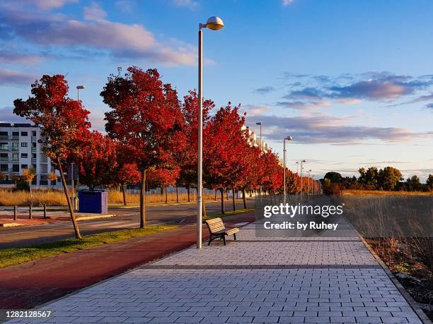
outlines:
[{"label": "grey asphalt road running behind the red tree trunks", "polygon": [[[232,210],[232,203],[226,201],[226,210]],[[247,200],[248,207],[254,206],[254,200]],[[146,224],[191,224],[196,217],[195,203],[175,205],[149,205],[146,207]],[[219,202],[206,204],[208,215],[219,214],[221,205]],[[241,200],[236,202],[236,208],[243,208]],[[93,234],[115,231],[118,229],[134,228],[139,226],[138,208],[110,208],[110,213],[115,217],[99,220],[83,220],[79,222],[81,234]],[[34,225],[25,227],[0,229],[0,249],[29,246],[32,244],[47,243],[74,237],[74,229],[69,221],[56,222],[46,225]]]}]

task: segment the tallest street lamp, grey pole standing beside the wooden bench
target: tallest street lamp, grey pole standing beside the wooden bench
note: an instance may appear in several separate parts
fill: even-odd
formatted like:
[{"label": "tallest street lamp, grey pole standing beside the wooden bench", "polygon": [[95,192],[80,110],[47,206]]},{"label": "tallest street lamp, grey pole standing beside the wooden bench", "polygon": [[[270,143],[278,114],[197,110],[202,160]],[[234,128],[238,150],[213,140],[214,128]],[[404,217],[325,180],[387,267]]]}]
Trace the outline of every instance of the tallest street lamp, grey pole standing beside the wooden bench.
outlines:
[{"label": "tallest street lamp, grey pole standing beside the wooden bench", "polygon": [[219,17],[211,17],[206,23],[199,23],[199,52],[198,52],[198,88],[199,88],[199,112],[198,112],[198,165],[197,165],[197,248],[202,248],[202,210],[203,210],[203,31],[202,28],[219,30],[224,27],[224,23]]}]

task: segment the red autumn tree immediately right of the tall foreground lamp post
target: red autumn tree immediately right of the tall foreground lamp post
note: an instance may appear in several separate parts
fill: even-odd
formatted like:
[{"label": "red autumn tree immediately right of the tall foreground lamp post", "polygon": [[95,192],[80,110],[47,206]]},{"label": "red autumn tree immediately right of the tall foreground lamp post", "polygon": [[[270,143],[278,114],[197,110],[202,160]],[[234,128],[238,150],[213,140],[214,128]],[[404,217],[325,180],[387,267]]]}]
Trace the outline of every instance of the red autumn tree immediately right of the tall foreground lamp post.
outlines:
[{"label": "red autumn tree immediately right of the tall foreground lamp post", "polygon": [[207,124],[208,136],[204,138],[204,179],[209,186],[221,191],[221,212],[224,214],[224,191],[233,189],[233,210],[236,210],[234,193],[243,180],[243,170],[248,167],[246,158],[246,133],[242,130],[244,116],[239,107],[221,107]]}]

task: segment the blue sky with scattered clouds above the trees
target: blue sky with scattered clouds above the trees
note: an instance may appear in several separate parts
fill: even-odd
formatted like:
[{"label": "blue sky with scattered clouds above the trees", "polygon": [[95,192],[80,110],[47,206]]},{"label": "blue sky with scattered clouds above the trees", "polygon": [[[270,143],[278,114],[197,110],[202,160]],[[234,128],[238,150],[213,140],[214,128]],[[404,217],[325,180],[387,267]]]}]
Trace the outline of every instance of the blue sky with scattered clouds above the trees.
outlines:
[{"label": "blue sky with scattered clouds above the trees", "polygon": [[204,29],[204,97],[241,104],[246,124],[287,165],[306,160],[358,175],[393,166],[433,173],[433,1],[0,0],[0,121],[43,74],[64,74],[103,131],[100,91],[118,67],[157,68],[182,98],[197,88]]}]

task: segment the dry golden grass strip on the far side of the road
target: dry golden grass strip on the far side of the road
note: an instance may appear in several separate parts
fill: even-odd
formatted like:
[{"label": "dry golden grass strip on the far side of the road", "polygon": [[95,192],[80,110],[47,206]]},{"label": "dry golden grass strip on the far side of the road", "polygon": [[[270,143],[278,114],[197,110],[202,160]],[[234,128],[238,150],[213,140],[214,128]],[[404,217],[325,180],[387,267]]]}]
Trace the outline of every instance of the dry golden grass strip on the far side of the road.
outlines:
[{"label": "dry golden grass strip on the far side of the road", "polygon": [[[127,203],[137,204],[140,202],[138,193],[127,193]],[[214,200],[214,194],[205,194],[204,199]],[[168,193],[168,202],[176,201],[175,193]],[[191,201],[194,199],[194,194],[190,195]],[[217,196],[219,199],[219,196]],[[146,203],[164,203],[166,196],[159,193],[152,193],[146,195]],[[187,193],[179,193],[179,201],[187,201]],[[110,190],[108,193],[108,203],[110,204],[123,204],[122,192]],[[50,189],[33,189],[33,205],[42,206],[60,206],[66,205],[66,198],[64,198],[63,191],[50,190]],[[25,206],[30,205],[30,193],[27,191],[11,191],[9,188],[0,188],[0,206]]]}]

